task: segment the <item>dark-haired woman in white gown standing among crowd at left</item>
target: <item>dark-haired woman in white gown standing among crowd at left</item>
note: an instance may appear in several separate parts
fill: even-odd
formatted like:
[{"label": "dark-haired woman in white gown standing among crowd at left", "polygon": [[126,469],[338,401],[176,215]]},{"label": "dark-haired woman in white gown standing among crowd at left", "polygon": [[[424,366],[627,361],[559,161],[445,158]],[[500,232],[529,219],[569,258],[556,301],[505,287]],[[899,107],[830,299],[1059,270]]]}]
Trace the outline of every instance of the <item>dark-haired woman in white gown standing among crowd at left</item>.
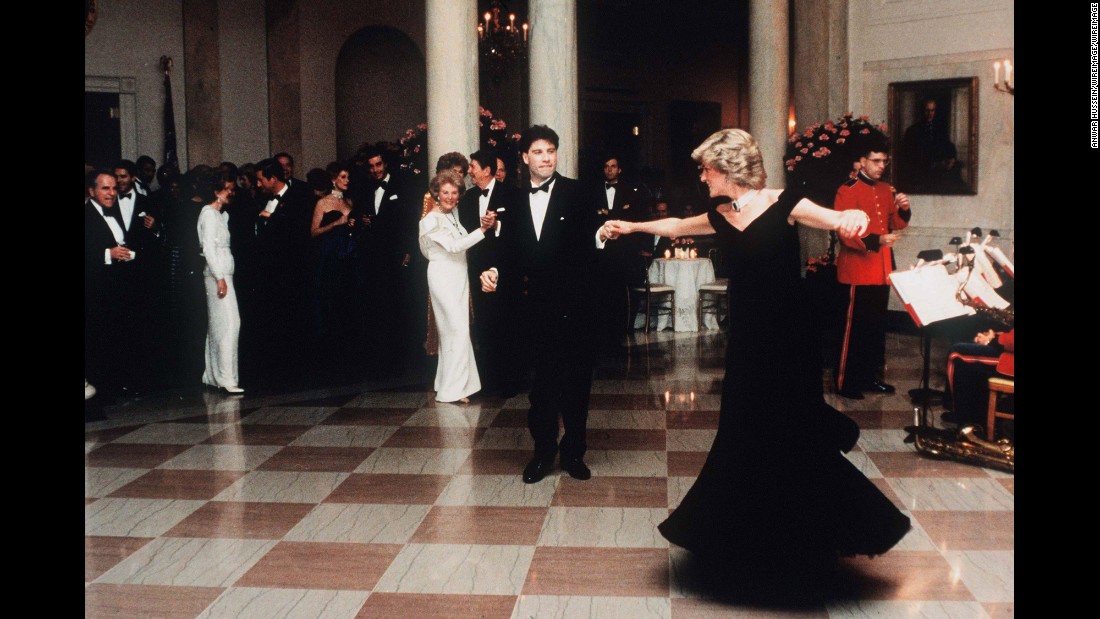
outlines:
[{"label": "dark-haired woman in white gown standing among crowd at left", "polygon": [[237,351],[241,314],[233,290],[233,254],[229,251],[229,213],[235,179],[217,174],[197,179],[196,189],[208,201],[199,212],[199,245],[206,258],[202,281],[207,294],[206,371],[202,383],[230,394],[243,394],[238,385]]}]

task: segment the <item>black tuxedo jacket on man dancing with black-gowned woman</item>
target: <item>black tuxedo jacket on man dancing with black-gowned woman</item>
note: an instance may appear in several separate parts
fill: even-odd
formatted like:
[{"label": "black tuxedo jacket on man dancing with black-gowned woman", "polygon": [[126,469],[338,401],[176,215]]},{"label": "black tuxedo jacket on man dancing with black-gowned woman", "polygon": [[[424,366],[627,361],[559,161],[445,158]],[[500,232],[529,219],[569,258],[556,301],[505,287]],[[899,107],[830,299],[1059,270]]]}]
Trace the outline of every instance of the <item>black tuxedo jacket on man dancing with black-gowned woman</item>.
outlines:
[{"label": "black tuxedo jacket on man dancing with black-gowned woman", "polygon": [[591,192],[572,178],[556,175],[541,237],[535,235],[530,194],[502,223],[497,289],[527,299],[534,319],[548,329],[564,317],[587,317],[602,224]]}]

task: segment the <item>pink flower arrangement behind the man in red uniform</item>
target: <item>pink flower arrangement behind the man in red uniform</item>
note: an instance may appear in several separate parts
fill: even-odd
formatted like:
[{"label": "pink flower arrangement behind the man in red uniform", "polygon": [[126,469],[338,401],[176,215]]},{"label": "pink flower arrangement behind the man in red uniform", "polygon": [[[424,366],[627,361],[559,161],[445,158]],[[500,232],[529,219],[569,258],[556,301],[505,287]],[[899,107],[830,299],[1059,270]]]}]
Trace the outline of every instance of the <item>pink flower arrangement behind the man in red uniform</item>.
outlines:
[{"label": "pink flower arrangement behind the man in red uniform", "polygon": [[855,176],[853,163],[861,147],[869,140],[887,139],[886,123],[876,125],[868,117],[855,118],[851,112],[812,124],[787,141],[787,186],[801,187],[814,202],[832,207],[836,189]]}]

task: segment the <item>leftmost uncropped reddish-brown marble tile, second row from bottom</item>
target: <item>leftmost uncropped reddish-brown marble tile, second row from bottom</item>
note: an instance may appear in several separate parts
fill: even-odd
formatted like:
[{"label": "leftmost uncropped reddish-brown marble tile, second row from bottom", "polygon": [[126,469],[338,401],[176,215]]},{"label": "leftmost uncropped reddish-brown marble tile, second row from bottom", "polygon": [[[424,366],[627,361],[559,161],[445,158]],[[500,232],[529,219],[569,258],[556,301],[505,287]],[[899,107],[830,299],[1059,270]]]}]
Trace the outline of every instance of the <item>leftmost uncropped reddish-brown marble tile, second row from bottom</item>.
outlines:
[{"label": "leftmost uncropped reddish-brown marble tile, second row from bottom", "polygon": [[371,590],[400,550],[399,544],[279,542],[235,586]]}]

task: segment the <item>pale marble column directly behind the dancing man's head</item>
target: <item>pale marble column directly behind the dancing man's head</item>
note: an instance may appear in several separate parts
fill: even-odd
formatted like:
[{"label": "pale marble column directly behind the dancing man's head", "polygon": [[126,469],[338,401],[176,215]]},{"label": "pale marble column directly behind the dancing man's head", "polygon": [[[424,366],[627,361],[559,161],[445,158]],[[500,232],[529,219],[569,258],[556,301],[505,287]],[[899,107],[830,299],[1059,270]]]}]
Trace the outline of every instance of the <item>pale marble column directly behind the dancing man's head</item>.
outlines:
[{"label": "pale marble column directly behind the dancing man's head", "polygon": [[558,132],[558,172],[576,177],[580,104],[576,79],[576,0],[531,0],[531,124]]}]

